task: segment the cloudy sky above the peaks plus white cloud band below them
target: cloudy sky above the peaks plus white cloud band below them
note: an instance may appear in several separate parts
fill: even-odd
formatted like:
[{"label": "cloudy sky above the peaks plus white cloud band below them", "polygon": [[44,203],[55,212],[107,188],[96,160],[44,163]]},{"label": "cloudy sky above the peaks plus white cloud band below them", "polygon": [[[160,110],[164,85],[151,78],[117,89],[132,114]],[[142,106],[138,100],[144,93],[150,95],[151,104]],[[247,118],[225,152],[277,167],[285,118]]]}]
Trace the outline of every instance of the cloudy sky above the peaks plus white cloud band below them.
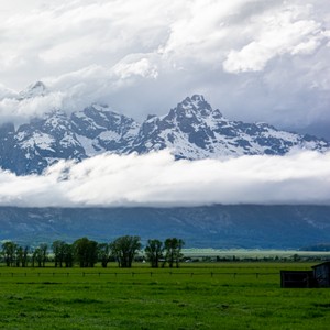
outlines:
[{"label": "cloudy sky above the peaks plus white cloud band below them", "polygon": [[[328,0],[11,0],[0,123],[92,102],[143,121],[201,94],[224,117],[330,141]],[[42,80],[47,95],[18,100]],[[0,206],[330,205],[330,154],[174,161],[99,155],[0,170]]]}]

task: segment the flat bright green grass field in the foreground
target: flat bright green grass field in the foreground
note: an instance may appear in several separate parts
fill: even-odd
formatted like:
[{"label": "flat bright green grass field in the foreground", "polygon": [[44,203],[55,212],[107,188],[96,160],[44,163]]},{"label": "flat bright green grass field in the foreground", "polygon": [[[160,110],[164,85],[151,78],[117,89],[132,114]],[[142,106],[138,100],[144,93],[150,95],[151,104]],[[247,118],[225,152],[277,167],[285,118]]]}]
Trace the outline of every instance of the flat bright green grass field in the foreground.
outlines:
[{"label": "flat bright green grass field in the foreground", "polygon": [[279,287],[314,264],[0,267],[0,329],[329,329],[329,289]]}]

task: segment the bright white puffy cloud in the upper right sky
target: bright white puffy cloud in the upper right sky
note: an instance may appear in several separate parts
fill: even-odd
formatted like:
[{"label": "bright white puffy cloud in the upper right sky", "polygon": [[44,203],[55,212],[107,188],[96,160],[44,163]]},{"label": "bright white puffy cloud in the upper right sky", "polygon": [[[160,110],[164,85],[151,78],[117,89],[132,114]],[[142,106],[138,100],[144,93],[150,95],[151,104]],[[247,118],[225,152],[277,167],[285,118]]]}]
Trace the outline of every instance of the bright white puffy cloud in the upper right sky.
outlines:
[{"label": "bright white puffy cloud in the upper right sky", "polygon": [[224,70],[258,72],[276,56],[312,54],[328,37],[320,23],[301,18],[306,14],[306,7],[297,6],[252,18],[249,30],[243,32],[250,41],[241,50],[230,51],[223,62]]}]

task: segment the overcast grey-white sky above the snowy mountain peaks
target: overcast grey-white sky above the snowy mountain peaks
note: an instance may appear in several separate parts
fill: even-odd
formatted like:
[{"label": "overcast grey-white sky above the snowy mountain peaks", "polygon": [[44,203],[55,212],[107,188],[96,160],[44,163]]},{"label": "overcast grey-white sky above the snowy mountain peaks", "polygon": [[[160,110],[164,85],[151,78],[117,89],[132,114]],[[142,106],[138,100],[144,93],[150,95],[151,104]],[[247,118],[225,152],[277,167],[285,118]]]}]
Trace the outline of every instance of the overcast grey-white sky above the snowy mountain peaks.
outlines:
[{"label": "overcast grey-white sky above the snowy mountain peaks", "polygon": [[[0,121],[107,102],[136,120],[202,94],[232,120],[330,140],[328,0],[11,0]],[[43,80],[51,96],[10,100]]]}]

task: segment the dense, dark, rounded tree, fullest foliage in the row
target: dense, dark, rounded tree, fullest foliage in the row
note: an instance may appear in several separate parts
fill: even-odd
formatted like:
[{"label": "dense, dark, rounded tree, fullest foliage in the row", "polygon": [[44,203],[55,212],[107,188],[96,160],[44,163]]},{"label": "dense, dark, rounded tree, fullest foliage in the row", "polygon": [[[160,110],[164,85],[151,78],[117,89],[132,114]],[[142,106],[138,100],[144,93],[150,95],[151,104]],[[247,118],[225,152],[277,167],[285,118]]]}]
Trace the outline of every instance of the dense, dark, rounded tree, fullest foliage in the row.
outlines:
[{"label": "dense, dark, rounded tree, fullest foliage in the row", "polygon": [[98,243],[87,238],[74,242],[76,260],[80,267],[94,267],[98,261]]}]

